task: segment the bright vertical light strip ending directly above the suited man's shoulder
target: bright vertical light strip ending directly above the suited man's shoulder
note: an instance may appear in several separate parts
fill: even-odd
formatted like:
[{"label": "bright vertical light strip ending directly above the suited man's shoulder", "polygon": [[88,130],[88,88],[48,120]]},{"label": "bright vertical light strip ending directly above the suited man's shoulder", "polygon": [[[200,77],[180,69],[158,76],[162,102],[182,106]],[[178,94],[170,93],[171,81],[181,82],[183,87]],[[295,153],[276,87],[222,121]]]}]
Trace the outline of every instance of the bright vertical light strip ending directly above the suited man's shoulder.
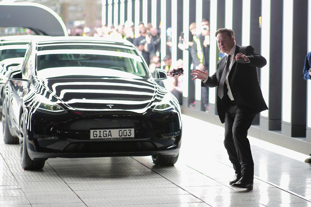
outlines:
[{"label": "bright vertical light strip ending directly above the suited man's shoulder", "polygon": [[243,0],[242,9],[242,45],[247,46],[250,44],[251,0]]}]

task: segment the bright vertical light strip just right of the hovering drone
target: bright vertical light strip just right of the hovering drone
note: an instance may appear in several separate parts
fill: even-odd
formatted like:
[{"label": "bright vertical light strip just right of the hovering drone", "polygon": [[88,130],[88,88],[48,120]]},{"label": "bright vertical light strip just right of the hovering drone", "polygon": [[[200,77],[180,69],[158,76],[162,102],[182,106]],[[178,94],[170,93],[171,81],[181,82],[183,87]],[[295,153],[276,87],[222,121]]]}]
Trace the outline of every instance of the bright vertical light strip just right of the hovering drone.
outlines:
[{"label": "bright vertical light strip just right of the hovering drone", "polygon": [[[183,0],[183,38],[188,43],[189,42],[189,0]],[[189,52],[188,50],[183,50],[183,97],[188,97],[188,78],[190,76],[189,65]]]}]

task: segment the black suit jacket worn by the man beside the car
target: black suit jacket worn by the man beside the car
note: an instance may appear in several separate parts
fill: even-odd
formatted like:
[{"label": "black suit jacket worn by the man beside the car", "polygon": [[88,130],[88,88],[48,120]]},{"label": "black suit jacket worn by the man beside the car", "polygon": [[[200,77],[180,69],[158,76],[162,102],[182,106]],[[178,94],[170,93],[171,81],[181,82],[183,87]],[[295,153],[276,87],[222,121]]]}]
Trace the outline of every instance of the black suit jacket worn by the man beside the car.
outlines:
[{"label": "black suit jacket worn by the man beside the car", "polygon": [[[265,66],[267,61],[264,57],[255,52],[253,46],[242,47],[236,45],[234,56],[239,52],[246,55],[250,63],[238,63],[233,60],[234,63],[228,77],[230,89],[234,101],[241,111],[249,114],[257,114],[268,109],[262,97],[257,73],[257,68]],[[216,87],[219,85],[226,60],[227,56],[224,56],[218,61],[215,74],[209,76],[206,83],[202,82],[202,86]],[[227,90],[224,90],[225,96],[226,92]],[[223,99],[226,100],[225,98]],[[225,110],[227,105],[224,100],[221,100],[220,97],[217,96],[217,111],[221,123],[225,122]]]}]

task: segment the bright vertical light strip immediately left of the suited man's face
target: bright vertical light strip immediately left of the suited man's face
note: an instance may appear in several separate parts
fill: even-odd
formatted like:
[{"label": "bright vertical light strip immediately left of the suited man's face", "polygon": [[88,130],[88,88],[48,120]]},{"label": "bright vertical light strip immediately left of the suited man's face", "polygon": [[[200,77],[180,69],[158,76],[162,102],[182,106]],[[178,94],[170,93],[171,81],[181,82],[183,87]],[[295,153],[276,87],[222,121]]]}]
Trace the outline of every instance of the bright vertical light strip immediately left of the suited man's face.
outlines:
[{"label": "bright vertical light strip immediately left of the suited man's face", "polygon": [[[212,76],[216,72],[216,37],[215,34],[217,31],[217,0],[211,1],[210,4],[210,33],[212,34],[210,36],[211,42],[210,42],[210,73],[209,75]],[[215,97],[216,97],[216,88],[209,88],[209,99],[208,101],[212,104],[215,104]]]}]

